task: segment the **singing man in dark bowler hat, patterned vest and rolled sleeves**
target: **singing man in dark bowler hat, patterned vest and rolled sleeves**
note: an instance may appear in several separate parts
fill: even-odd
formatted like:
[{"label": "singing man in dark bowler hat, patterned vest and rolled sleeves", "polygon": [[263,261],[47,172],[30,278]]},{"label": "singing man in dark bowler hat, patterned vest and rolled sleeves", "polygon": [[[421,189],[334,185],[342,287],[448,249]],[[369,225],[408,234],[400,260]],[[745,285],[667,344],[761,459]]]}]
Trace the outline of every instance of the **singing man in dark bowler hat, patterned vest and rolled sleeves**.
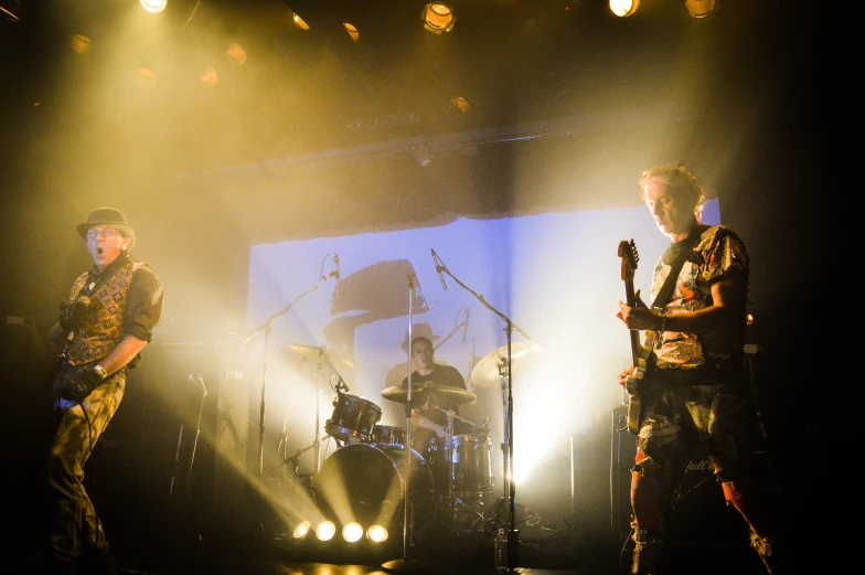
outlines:
[{"label": "singing man in dark bowler hat, patterned vest and rolled sleeves", "polygon": [[[162,313],[162,285],[134,263],[136,233],[113,207],[97,207],[77,225],[93,267],[73,283],[49,340],[58,352],[53,379],[60,414],[49,452],[54,507],[47,573],[93,567],[117,571],[102,524],[84,490],[84,464],[120,405],[126,371],[153,336]],[[87,571],[89,573],[89,571]]]}]

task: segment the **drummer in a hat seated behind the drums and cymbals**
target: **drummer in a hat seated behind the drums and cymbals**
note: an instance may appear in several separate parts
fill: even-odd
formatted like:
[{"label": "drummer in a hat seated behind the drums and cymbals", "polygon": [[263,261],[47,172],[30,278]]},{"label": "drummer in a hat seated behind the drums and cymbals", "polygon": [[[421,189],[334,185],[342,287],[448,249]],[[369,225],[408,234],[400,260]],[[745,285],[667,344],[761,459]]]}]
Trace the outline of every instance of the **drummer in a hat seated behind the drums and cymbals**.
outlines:
[{"label": "drummer in a hat seated behind the drums and cymbals", "polygon": [[[426,329],[424,329],[426,328]],[[432,330],[428,324],[421,323],[414,328],[419,334],[412,338],[412,384],[431,383],[435,385],[449,385],[466,390],[466,380],[459,371],[451,365],[435,362],[435,348],[432,347]],[[406,349],[405,342],[403,343]],[[408,385],[408,377],[403,380],[403,385]],[[412,387],[413,392],[415,387]],[[451,412],[453,420],[453,435],[474,433],[474,425],[459,415],[459,402],[447,397],[438,397],[435,392],[421,393],[418,397],[423,406],[412,409],[412,425],[416,428],[427,429],[438,437],[447,437],[448,414]],[[413,401],[414,404],[414,401]],[[425,434],[419,434],[425,435]],[[428,434],[426,434],[428,436]],[[412,441],[414,445],[423,441]]]}]

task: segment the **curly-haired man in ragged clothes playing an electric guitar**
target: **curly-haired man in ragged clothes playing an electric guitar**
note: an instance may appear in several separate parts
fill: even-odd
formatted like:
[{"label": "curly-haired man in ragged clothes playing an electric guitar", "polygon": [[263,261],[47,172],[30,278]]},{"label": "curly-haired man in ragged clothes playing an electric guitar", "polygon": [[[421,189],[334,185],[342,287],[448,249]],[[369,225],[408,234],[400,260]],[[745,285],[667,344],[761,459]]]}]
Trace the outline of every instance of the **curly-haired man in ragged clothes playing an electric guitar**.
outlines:
[{"label": "curly-haired man in ragged clothes playing an electric guitar", "polygon": [[[750,477],[765,438],[743,365],[748,254],[729,227],[700,223],[705,193],[685,167],[653,167],[639,185],[658,228],[671,241],[653,270],[653,297],[680,256],[683,263],[671,289],[663,290],[664,301],[650,308],[638,290],[634,305],[619,301],[616,315],[629,330],[647,331],[648,368],[637,371],[644,373],[637,382],[631,573],[663,573],[671,498],[701,441],[725,499],[748,523],[767,572],[781,573],[777,525],[765,491]],[[633,376],[631,366],[619,383],[633,384]]]}]

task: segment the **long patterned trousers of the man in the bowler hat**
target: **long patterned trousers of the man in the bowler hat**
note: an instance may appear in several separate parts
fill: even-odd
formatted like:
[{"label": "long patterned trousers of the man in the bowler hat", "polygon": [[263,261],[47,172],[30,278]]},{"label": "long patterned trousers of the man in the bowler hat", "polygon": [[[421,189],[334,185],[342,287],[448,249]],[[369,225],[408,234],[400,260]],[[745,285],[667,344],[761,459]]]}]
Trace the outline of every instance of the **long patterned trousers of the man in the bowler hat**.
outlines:
[{"label": "long patterned trousers of the man in the bowler hat", "polygon": [[84,489],[84,464],[117,412],[125,388],[126,370],[120,370],[95,388],[82,405],[63,409],[47,466],[54,511],[50,544],[56,563],[73,565],[82,551],[95,554],[108,551],[102,524]]}]

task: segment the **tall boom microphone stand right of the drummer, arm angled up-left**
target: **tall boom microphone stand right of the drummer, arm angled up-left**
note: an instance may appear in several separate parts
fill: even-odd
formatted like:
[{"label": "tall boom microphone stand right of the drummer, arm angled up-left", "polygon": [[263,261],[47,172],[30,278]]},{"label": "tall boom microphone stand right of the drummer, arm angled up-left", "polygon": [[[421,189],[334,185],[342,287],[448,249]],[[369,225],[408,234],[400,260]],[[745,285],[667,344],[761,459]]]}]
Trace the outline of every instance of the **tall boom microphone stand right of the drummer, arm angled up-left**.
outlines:
[{"label": "tall boom microphone stand right of the drummer, arm angled up-left", "polygon": [[[438,268],[453,278],[462,289],[474,296],[478,301],[480,301],[483,307],[499,316],[502,321],[504,321],[504,333],[508,338],[508,356],[503,361],[503,363],[499,366],[499,373],[502,376],[502,396],[504,403],[504,422],[503,422],[503,435],[504,440],[502,441],[502,464],[504,468],[504,503],[505,503],[505,511],[506,511],[506,521],[505,525],[508,528],[508,547],[509,550],[515,546],[519,543],[517,533],[515,530],[515,522],[514,522],[514,496],[516,492],[513,479],[513,377],[511,374],[511,334],[514,330],[521,333],[525,339],[531,340],[532,338],[528,334],[520,329],[510,318],[508,318],[504,313],[496,310],[492,306],[490,306],[483,296],[476,292],[473,289],[468,287],[466,284],[459,280],[453,274],[450,273],[450,269],[441,262],[441,258],[437,256],[438,259]],[[508,554],[508,562],[511,562],[512,554]],[[505,565],[506,568],[510,568],[510,565]]]}]

